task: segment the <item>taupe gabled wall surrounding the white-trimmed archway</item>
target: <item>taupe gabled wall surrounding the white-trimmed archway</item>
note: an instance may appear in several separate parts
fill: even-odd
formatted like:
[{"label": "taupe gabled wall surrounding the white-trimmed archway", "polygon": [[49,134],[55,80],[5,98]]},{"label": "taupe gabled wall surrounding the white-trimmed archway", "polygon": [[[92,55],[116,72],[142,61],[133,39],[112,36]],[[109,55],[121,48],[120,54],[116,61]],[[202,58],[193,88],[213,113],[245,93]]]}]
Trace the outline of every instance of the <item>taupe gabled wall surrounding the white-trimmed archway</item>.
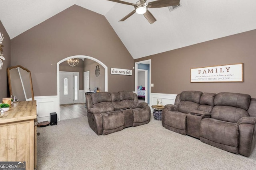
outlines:
[{"label": "taupe gabled wall surrounding the white-trimmed archway", "polygon": [[108,67],[108,91],[134,91],[134,75],[110,74],[110,68],[132,69],[134,59],[100,14],[71,6],[11,40],[12,65],[31,71],[34,95],[57,95],[57,63],[86,55]]}]

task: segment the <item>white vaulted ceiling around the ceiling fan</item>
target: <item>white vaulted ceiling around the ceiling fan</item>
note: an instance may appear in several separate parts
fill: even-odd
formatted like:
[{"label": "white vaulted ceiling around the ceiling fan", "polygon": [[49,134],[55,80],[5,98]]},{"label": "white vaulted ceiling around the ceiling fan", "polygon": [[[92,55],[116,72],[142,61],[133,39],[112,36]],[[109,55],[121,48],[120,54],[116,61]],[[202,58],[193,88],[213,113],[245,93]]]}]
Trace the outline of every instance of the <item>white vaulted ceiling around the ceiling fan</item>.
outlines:
[{"label": "white vaulted ceiling around the ceiling fan", "polygon": [[256,29],[255,0],[180,0],[150,9],[152,25],[139,14],[118,22],[134,7],[107,0],[1,0],[0,20],[12,39],[74,4],[104,15],[134,59]]}]

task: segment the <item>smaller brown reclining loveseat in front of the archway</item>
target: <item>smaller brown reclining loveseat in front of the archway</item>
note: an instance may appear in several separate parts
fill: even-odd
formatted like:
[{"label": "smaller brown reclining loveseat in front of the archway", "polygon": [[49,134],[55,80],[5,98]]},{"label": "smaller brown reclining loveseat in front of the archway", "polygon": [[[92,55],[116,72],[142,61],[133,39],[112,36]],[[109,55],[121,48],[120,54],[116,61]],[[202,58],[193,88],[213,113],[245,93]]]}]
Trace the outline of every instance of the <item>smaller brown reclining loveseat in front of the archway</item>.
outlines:
[{"label": "smaller brown reclining loveseat in front of the archway", "polygon": [[97,135],[107,135],[150,121],[150,107],[138,103],[133,92],[98,92],[86,95],[88,123]]}]

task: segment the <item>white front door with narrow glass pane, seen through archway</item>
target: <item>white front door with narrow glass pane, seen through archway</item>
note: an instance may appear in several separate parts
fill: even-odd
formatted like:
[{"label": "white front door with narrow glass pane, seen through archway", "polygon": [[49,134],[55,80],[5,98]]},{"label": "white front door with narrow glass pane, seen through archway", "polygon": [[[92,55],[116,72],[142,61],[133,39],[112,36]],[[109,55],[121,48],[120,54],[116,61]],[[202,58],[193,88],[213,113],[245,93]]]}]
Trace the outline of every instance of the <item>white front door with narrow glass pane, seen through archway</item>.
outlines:
[{"label": "white front door with narrow glass pane, seen through archway", "polygon": [[73,82],[72,72],[60,72],[60,104],[74,104]]}]

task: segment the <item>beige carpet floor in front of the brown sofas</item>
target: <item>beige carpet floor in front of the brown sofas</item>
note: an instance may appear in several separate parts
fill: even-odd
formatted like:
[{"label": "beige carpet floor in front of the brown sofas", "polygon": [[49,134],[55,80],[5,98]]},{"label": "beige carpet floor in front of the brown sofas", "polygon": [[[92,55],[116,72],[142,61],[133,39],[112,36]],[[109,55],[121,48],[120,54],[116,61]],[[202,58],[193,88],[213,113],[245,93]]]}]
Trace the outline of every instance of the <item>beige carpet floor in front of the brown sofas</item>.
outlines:
[{"label": "beige carpet floor in front of the brown sofas", "polygon": [[150,123],[96,135],[87,117],[38,128],[38,170],[255,170],[247,158]]}]

